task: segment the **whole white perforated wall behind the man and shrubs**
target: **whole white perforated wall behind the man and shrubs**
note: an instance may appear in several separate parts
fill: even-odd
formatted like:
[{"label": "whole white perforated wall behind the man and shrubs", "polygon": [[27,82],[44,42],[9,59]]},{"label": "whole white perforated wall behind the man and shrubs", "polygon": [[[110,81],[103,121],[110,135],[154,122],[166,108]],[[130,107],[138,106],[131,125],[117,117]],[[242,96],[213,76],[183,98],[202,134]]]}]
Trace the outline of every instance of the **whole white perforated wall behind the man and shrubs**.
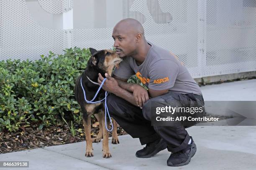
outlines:
[{"label": "whole white perforated wall behind the man and shrubs", "polygon": [[111,48],[115,23],[135,18],[146,39],[176,54],[194,78],[256,70],[256,0],[33,1],[53,24],[74,6],[74,29],[46,28],[25,0],[1,0],[0,60],[33,60],[74,46]]}]

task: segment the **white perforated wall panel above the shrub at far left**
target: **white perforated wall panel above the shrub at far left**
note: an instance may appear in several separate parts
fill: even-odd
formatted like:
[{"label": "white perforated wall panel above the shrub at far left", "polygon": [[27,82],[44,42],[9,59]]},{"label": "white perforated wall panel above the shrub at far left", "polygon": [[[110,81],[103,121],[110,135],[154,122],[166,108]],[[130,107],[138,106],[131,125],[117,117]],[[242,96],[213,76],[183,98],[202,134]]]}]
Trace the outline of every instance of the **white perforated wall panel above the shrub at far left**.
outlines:
[{"label": "white perforated wall panel above the shrub at far left", "polygon": [[63,53],[67,47],[65,30],[48,29],[36,23],[25,0],[1,0],[0,3],[0,60],[34,60],[49,51]]}]

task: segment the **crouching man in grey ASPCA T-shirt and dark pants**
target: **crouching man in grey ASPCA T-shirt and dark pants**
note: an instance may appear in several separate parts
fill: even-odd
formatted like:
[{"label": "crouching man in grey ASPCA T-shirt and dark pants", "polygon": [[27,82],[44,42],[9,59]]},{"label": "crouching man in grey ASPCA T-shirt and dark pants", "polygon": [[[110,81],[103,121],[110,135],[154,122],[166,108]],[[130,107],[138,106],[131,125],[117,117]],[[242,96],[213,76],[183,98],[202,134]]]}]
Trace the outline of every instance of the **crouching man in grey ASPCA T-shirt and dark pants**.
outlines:
[{"label": "crouching man in grey ASPCA T-shirt and dark pants", "polygon": [[[113,29],[116,53],[123,58],[113,77],[105,75],[103,89],[111,92],[107,104],[110,115],[133,138],[139,138],[146,147],[138,150],[138,158],[150,158],[161,150],[171,153],[169,166],[187,165],[196,152],[196,145],[181,121],[151,126],[151,105],[203,107],[200,87],[186,67],[169,51],[147,42],[144,30],[137,20],[127,18]],[[148,87],[127,83],[131,75]],[[104,78],[99,74],[98,82]]]}]

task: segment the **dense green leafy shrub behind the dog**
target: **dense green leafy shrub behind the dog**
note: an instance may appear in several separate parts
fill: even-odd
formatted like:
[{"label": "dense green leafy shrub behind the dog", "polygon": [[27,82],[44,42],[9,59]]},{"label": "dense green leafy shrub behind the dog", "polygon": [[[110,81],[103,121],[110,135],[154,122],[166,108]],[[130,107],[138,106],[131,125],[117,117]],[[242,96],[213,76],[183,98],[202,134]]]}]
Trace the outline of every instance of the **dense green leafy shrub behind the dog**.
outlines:
[{"label": "dense green leafy shrub behind the dog", "polygon": [[[80,106],[74,98],[77,77],[87,66],[89,49],[64,50],[64,55],[49,52],[34,61],[0,61],[0,131],[16,131],[20,126],[82,123]],[[141,84],[135,76],[128,82]],[[142,84],[141,84],[142,85]],[[70,122],[70,121],[69,121]],[[68,125],[68,124],[67,124]]]}]

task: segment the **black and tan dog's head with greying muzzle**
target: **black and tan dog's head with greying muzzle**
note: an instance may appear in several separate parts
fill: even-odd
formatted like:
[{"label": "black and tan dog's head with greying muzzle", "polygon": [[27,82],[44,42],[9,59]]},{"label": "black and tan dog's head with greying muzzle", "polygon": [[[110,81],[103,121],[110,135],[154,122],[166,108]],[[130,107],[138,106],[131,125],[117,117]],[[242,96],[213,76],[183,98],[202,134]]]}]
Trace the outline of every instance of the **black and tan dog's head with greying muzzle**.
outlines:
[{"label": "black and tan dog's head with greying muzzle", "polygon": [[107,72],[108,75],[112,75],[112,70],[115,66],[123,60],[119,55],[112,50],[100,50],[97,51],[94,48],[89,48],[92,56],[88,60],[87,65],[96,67],[102,73]]}]

